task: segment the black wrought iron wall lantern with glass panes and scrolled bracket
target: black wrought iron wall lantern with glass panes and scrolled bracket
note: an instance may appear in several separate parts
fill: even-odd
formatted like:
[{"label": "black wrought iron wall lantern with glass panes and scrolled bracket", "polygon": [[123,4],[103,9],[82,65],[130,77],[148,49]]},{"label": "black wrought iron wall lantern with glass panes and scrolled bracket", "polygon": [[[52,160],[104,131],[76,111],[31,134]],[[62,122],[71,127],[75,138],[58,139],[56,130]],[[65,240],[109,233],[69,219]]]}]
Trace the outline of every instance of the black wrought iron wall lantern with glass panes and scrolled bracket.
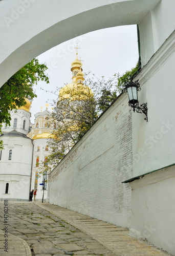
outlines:
[{"label": "black wrought iron wall lantern with glass panes and scrolled bracket", "polygon": [[144,118],[146,121],[148,121],[147,116],[147,103],[143,103],[139,106],[139,100],[138,100],[138,91],[141,90],[139,80],[136,80],[133,82],[132,80],[125,85],[123,88],[123,91],[128,94],[129,102],[128,105],[133,108],[133,111],[137,113],[143,113],[146,115]]}]

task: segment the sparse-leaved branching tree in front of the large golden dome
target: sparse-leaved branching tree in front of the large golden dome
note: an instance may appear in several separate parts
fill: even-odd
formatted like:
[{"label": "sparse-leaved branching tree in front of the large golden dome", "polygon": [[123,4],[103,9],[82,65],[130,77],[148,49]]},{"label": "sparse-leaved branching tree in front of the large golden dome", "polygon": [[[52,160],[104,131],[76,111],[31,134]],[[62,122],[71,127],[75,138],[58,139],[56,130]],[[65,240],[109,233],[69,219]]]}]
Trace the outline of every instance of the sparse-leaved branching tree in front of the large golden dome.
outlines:
[{"label": "sparse-leaved branching tree in front of the large golden dome", "polygon": [[94,96],[88,87],[84,88],[86,90],[81,87],[67,89],[70,98],[58,99],[51,116],[54,120],[52,138],[48,140],[51,154],[48,156],[48,165],[42,163],[41,172],[49,172],[54,168],[97,119]]}]

